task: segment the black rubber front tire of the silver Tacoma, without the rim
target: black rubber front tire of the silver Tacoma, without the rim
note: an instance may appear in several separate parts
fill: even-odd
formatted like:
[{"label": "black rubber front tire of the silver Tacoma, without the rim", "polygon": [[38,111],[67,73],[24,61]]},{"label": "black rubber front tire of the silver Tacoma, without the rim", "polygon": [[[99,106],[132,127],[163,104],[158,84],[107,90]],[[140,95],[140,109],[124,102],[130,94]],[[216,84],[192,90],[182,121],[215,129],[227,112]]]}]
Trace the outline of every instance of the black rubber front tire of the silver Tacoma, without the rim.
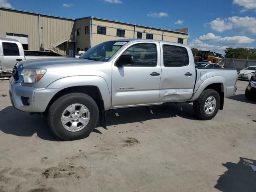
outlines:
[{"label": "black rubber front tire of the silver Tacoma, without the rim", "polygon": [[[77,132],[66,130],[62,126],[62,112],[72,104],[83,104],[90,111],[90,120],[88,124]],[[78,140],[86,138],[94,130],[99,119],[99,109],[96,102],[87,94],[70,93],[58,98],[49,108],[48,124],[52,132],[62,140]]]}]

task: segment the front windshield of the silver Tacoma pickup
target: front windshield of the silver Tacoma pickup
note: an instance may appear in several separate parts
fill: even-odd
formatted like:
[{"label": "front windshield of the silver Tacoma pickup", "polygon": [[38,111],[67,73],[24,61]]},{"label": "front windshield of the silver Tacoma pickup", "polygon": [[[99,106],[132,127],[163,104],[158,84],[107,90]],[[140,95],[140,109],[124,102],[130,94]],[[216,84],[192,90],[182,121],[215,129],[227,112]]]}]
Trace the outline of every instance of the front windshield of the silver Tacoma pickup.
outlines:
[{"label": "front windshield of the silver Tacoma pickup", "polygon": [[90,48],[80,58],[94,61],[108,61],[127,41],[108,41]]}]

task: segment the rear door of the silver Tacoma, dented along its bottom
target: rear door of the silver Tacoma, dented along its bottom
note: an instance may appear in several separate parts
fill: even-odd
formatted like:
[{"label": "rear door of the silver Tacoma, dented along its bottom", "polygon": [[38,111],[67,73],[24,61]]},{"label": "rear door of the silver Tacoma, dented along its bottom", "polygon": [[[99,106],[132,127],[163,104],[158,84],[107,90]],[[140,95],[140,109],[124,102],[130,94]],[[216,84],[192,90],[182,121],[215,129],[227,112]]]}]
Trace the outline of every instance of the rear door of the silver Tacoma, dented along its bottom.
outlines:
[{"label": "rear door of the silver Tacoma, dented along its bottom", "polygon": [[[161,43],[160,102],[182,102],[191,98],[196,80],[194,58],[189,48]],[[191,54],[188,54],[191,52]]]}]

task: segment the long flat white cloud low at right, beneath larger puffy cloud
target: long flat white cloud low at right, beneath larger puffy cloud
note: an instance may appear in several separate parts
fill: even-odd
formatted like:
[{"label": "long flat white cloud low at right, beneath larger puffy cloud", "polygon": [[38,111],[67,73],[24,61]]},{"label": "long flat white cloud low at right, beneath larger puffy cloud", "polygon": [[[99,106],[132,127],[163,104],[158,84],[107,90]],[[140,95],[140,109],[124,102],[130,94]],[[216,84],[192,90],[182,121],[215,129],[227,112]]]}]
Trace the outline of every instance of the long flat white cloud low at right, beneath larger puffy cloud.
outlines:
[{"label": "long flat white cloud low at right, beneath larger puffy cloud", "polygon": [[202,41],[220,42],[224,45],[245,45],[255,41],[255,39],[251,39],[246,36],[226,36],[222,38],[221,36],[215,36],[213,33],[200,36],[198,39]]}]

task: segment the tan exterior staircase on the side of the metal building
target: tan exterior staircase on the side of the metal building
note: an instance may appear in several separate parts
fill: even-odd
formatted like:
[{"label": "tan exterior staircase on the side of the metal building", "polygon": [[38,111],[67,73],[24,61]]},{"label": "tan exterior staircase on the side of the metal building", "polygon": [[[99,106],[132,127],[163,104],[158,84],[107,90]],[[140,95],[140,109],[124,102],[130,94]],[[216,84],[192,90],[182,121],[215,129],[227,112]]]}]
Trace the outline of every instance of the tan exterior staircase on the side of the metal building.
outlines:
[{"label": "tan exterior staircase on the side of the metal building", "polygon": [[42,43],[42,50],[50,50],[52,52],[67,57],[68,53],[66,52],[66,50],[58,48],[58,45],[64,42],[76,42],[76,40],[73,35],[64,35],[51,43]]}]

